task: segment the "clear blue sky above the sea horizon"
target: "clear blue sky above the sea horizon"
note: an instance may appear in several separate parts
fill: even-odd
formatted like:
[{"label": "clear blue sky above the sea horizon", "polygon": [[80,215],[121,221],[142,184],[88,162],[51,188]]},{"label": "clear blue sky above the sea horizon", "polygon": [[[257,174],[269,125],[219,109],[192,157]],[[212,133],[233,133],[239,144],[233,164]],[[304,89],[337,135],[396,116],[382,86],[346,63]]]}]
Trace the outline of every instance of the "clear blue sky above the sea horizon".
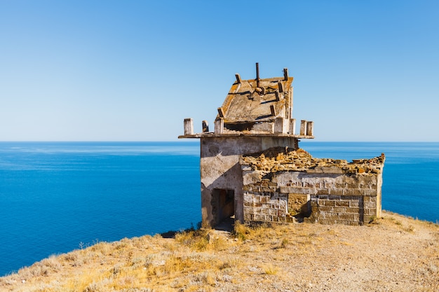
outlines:
[{"label": "clear blue sky above the sea horizon", "polygon": [[0,0],[0,141],[172,141],[234,74],[317,141],[439,141],[439,1]]}]

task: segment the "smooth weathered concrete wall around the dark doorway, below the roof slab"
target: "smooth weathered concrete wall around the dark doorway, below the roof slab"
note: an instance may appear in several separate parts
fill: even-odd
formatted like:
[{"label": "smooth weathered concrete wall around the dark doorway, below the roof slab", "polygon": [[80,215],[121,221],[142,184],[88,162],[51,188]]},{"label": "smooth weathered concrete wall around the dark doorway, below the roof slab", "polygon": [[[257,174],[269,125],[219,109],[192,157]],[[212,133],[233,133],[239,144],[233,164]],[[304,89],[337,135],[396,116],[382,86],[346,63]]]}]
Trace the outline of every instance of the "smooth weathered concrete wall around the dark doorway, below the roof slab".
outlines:
[{"label": "smooth weathered concrete wall around the dark doorway, below the roof slab", "polygon": [[234,215],[243,221],[243,172],[241,155],[272,147],[297,148],[293,137],[202,137],[201,138],[201,214],[203,224],[217,225],[222,218],[215,210],[214,190],[234,191]]}]

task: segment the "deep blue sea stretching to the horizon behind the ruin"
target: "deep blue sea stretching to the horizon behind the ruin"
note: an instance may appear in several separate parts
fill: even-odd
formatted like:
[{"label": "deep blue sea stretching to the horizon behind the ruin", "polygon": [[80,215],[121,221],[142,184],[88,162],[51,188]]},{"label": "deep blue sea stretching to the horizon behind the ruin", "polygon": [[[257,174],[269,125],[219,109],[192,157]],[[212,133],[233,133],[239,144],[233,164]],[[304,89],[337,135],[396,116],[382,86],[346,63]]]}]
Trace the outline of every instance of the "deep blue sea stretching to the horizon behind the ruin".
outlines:
[{"label": "deep blue sea stretching to the horizon behind the ruin", "polygon": [[[386,154],[383,209],[439,221],[439,143],[317,142],[316,158]],[[0,142],[0,276],[201,221],[199,142]]]}]

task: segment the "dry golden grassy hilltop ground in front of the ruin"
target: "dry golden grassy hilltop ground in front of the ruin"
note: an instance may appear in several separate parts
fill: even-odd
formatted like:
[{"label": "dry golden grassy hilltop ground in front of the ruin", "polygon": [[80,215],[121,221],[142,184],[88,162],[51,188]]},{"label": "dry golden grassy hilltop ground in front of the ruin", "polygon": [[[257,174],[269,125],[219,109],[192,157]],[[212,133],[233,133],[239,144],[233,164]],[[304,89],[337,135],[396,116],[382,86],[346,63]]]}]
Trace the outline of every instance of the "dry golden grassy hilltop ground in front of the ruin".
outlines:
[{"label": "dry golden grassy hilltop ground in front of the ruin", "polygon": [[439,291],[439,225],[384,213],[99,242],[1,277],[0,291]]}]

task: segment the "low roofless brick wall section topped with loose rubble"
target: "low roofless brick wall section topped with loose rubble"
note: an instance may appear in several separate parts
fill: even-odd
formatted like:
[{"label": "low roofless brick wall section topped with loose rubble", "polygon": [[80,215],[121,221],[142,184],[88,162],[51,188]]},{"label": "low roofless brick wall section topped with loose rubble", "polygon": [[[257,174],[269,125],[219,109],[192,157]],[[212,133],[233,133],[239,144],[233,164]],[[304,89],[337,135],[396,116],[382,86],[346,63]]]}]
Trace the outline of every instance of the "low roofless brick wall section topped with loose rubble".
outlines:
[{"label": "low roofless brick wall section topped with loose rubble", "polygon": [[272,148],[240,162],[245,221],[358,225],[381,216],[384,155],[348,163]]}]

